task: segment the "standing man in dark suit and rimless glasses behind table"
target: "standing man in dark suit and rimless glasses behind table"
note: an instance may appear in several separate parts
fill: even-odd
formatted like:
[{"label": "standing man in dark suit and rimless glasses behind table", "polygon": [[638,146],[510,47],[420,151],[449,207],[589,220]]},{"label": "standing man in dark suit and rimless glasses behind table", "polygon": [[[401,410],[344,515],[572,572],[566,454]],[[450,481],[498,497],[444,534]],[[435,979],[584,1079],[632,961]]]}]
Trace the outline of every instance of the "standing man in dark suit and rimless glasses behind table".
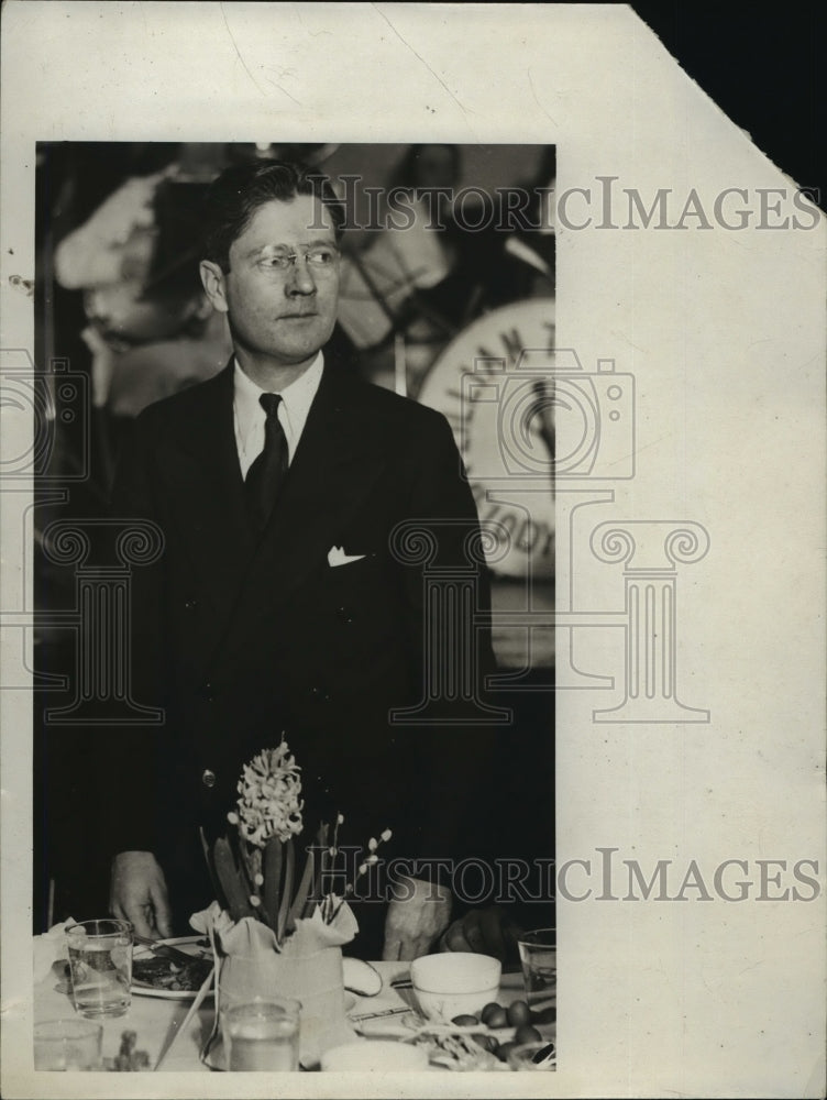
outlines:
[{"label": "standing man in dark suit and rimless glasses behind table", "polygon": [[[135,574],[132,635],[135,695],[166,721],[134,743],[112,824],[112,910],[143,934],[168,935],[173,910],[186,919],[209,902],[198,826],[225,829],[242,765],[283,730],[310,834],[341,811],[348,844],[390,827],[389,856],[451,856],[473,801],[468,726],[389,714],[423,696],[426,626],[442,630],[426,623],[421,562],[394,550],[394,531],[429,528],[431,564],[471,568],[485,610],[485,569],[467,553],[476,508],[444,418],[321,351],[341,221],[326,188],[271,161],[212,185],[201,279],[234,356],[139,417],[115,482],[114,514],[164,536]],[[442,639],[446,660],[493,667],[485,630],[472,648]],[[406,887],[387,911],[386,957],[423,954],[449,923],[443,886]],[[384,914],[362,906],[367,956]]]}]

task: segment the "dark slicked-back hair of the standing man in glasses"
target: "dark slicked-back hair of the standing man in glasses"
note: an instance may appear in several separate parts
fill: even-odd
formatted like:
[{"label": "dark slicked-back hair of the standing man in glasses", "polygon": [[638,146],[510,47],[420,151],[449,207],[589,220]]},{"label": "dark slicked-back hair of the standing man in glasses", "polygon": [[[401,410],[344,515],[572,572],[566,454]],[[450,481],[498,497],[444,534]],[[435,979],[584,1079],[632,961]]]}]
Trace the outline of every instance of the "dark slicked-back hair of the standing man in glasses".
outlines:
[{"label": "dark slicked-back hair of the standing man in glasses", "polygon": [[207,191],[202,257],[229,272],[230,248],[258,207],[274,199],[289,202],[297,195],[312,195],[324,205],[339,240],[344,209],[327,176],[293,161],[244,161],[225,168]]}]

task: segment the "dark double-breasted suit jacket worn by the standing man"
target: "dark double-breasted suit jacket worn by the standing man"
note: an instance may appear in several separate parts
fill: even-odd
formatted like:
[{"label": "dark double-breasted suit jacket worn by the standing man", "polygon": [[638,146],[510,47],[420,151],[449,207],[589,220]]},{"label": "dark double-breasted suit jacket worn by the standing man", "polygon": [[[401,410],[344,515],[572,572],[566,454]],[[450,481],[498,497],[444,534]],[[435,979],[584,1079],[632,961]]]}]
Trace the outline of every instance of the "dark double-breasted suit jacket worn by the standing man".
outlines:
[{"label": "dark double-breasted suit jacket worn by the standing man", "polygon": [[[390,827],[388,856],[459,851],[481,763],[474,732],[388,723],[389,708],[422,696],[424,630],[422,566],[397,560],[390,534],[435,522],[435,563],[467,568],[464,539],[478,529],[440,414],[327,364],[256,539],[230,365],[137,418],[113,510],[164,535],[161,559],[134,572],[132,639],[133,694],[166,710],[161,729],[119,739],[133,770],[117,792],[113,848],[161,849],[163,861],[181,829],[220,828],[242,765],[284,730],[302,768],[306,835],[341,811],[344,843]],[[332,568],[331,547],[363,557]],[[484,568],[476,583],[486,610]],[[493,668],[485,630],[478,657]]]}]

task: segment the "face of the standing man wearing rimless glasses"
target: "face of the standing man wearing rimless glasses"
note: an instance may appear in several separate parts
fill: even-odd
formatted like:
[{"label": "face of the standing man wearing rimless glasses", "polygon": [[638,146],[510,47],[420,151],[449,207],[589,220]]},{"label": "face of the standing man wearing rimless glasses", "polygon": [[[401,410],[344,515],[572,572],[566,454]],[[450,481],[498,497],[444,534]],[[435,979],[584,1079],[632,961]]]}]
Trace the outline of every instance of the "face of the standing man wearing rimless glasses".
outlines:
[{"label": "face of the standing man wearing rimless glasses", "polygon": [[333,331],[338,257],[328,211],[313,196],[297,195],[258,207],[230,248],[230,271],[205,261],[201,278],[212,305],[228,315],[238,351],[298,366]]}]

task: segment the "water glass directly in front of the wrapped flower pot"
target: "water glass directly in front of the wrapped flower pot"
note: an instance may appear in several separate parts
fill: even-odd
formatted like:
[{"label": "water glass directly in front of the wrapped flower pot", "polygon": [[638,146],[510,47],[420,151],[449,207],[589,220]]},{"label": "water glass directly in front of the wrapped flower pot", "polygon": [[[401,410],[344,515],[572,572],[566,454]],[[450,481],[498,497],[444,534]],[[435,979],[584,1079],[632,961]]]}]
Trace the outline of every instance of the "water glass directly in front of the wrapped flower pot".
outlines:
[{"label": "water glass directly in front of the wrapped flower pot", "polygon": [[221,1014],[231,1071],[295,1071],[299,1068],[299,1013],[289,998],[233,1002]]}]

